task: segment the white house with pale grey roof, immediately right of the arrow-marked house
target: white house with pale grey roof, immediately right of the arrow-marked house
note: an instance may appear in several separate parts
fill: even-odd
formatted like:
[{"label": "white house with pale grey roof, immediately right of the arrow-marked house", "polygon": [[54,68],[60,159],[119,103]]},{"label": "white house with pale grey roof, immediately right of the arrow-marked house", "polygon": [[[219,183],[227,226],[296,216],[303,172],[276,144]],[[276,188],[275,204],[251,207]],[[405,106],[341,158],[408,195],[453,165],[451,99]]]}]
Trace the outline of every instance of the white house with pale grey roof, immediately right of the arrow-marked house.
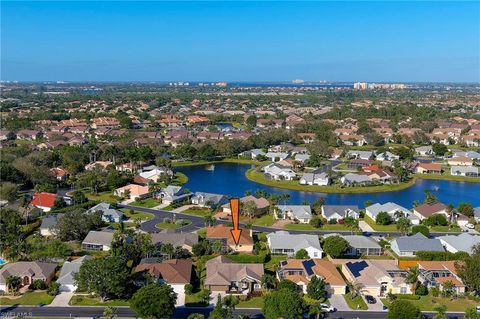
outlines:
[{"label": "white house with pale grey roof, immediately right of the arrow-marked house", "polygon": [[267,235],[268,248],[272,254],[285,254],[294,257],[295,254],[305,249],[310,258],[322,258],[323,249],[316,235],[290,234],[279,230]]}]

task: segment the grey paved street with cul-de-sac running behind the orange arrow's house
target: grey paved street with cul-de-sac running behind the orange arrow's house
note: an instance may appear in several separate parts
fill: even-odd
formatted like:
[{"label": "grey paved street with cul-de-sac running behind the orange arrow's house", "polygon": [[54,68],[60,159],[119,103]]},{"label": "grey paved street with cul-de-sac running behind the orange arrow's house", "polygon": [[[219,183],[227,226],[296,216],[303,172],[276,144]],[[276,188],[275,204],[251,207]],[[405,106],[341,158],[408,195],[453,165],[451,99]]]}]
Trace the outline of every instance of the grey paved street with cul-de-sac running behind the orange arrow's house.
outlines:
[{"label": "grey paved street with cul-de-sac running behind the orange arrow's house", "polygon": [[[183,213],[173,213],[171,211],[166,211],[166,210],[161,210],[161,209],[159,210],[159,209],[155,209],[155,208],[146,208],[146,207],[132,206],[132,205],[119,204],[118,207],[119,208],[134,209],[134,210],[137,210],[137,211],[147,212],[147,213],[151,213],[152,215],[154,215],[155,217],[153,219],[142,223],[141,226],[140,226],[141,230],[143,230],[145,232],[149,232],[149,233],[158,233],[160,231],[160,229],[155,227],[155,225],[162,222],[164,218],[170,218],[171,219],[174,214],[175,214],[177,219],[179,219],[179,218],[188,219],[192,222],[190,225],[182,227],[182,228],[178,229],[177,231],[193,232],[195,230],[198,230],[200,228],[205,227],[203,217],[199,217],[199,216],[188,215],[188,214],[183,214]],[[227,224],[228,221],[217,220],[217,223]],[[244,225],[244,224],[242,224],[242,225]],[[279,229],[271,228],[271,227],[263,227],[263,226],[253,226],[253,230],[258,231],[258,232],[271,233],[271,232],[278,231]],[[350,231],[330,231],[330,230],[289,230],[289,232],[293,233],[293,234],[295,234],[295,233],[296,234],[334,234],[334,233],[338,233],[338,234],[344,234],[344,235],[351,235]],[[383,237],[385,237],[385,236],[396,236],[396,235],[399,236],[400,235],[400,233],[398,233],[398,232],[363,232],[363,234],[366,235],[366,236],[374,235],[374,236],[383,236]],[[435,236],[448,235],[448,234],[452,234],[452,233],[430,233],[430,235],[434,236],[434,237]]]}]

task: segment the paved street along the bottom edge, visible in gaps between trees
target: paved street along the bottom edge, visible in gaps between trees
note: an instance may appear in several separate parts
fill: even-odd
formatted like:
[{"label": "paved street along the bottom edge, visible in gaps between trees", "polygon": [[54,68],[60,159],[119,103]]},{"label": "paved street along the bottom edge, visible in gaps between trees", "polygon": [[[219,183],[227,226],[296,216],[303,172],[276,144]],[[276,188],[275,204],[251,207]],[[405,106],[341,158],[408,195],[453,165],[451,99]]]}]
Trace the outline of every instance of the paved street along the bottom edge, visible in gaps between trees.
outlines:
[{"label": "paved street along the bottom edge, visible in gaps between trees", "polygon": [[[208,315],[212,308],[185,308],[179,307],[175,309],[173,318],[187,318],[191,313],[202,313]],[[59,317],[59,318],[91,318],[93,316],[101,316],[103,308],[101,307],[24,307],[10,306],[0,307],[0,318],[15,317]],[[128,307],[117,308],[119,317],[135,317],[135,314]],[[249,315],[252,319],[263,318],[260,309],[236,309],[234,315]],[[433,313],[425,313],[427,318],[432,318]],[[463,313],[448,313],[449,319],[463,318]],[[337,311],[328,314],[329,319],[384,319],[385,311]]]}]

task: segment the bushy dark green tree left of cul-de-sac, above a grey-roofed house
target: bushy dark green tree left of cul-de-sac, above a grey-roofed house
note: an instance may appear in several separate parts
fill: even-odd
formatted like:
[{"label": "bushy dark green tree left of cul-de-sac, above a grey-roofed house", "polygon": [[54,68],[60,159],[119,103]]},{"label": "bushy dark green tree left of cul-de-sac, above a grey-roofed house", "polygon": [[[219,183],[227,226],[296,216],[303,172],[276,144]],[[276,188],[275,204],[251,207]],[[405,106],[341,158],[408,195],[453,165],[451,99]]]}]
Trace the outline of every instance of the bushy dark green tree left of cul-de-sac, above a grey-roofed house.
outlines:
[{"label": "bushy dark green tree left of cul-de-sac, above a grey-roofed house", "polygon": [[83,240],[90,230],[102,224],[101,212],[87,213],[84,209],[75,209],[58,218],[53,230],[60,240]]}]

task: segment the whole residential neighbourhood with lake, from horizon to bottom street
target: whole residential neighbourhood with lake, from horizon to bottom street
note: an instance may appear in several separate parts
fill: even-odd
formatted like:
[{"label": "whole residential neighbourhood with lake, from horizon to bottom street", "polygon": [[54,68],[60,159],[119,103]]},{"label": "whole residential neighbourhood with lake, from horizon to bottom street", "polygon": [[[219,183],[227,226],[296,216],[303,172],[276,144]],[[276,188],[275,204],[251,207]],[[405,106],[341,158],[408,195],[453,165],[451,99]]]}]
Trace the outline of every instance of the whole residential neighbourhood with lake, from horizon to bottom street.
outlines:
[{"label": "whole residential neighbourhood with lake, from horizon to bottom street", "polygon": [[479,304],[472,88],[2,86],[2,305]]}]

